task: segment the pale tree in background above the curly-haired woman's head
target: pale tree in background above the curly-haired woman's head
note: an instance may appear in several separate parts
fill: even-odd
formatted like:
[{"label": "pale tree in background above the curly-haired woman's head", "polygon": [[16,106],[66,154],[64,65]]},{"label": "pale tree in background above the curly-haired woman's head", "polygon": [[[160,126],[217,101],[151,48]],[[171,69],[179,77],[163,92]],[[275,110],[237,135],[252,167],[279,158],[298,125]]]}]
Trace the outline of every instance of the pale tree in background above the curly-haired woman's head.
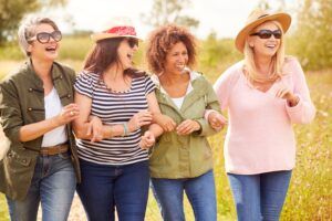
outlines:
[{"label": "pale tree in background above the curly-haired woman's head", "polygon": [[177,23],[180,25],[197,28],[199,21],[183,14],[183,10],[188,8],[190,0],[154,0],[152,13],[143,17],[143,22],[159,27],[168,23]]}]

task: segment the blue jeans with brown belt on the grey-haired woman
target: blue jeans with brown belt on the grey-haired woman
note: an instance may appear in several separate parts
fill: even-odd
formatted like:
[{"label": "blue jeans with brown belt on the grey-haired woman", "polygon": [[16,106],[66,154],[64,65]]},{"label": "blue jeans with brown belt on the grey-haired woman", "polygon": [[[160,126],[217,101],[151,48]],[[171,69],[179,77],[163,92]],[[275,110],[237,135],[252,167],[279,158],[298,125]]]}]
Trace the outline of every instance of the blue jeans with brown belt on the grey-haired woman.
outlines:
[{"label": "blue jeans with brown belt on the grey-haired woman", "polygon": [[10,218],[12,221],[35,221],[41,202],[43,221],[65,221],[75,188],[70,154],[39,156],[25,199],[7,198]]}]

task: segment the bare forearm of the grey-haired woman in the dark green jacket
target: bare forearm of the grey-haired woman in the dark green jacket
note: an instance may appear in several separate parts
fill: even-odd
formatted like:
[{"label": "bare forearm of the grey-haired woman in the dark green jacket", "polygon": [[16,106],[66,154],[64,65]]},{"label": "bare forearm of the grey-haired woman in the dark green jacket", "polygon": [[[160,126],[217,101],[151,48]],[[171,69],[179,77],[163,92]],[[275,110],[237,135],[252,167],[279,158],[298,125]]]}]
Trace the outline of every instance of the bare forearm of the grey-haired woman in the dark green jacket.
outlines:
[{"label": "bare forearm of the grey-haired woman in the dark green jacket", "polygon": [[20,128],[19,139],[20,141],[30,141],[37,139],[48,131],[61,126],[56,117],[44,119],[42,122],[24,125]]}]

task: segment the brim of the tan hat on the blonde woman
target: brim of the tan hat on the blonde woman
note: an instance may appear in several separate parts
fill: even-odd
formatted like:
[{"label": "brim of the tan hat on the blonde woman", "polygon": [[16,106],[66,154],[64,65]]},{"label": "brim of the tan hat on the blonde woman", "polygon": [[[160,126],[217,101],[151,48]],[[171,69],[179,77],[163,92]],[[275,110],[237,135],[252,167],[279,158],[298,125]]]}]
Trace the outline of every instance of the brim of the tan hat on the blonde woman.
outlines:
[{"label": "brim of the tan hat on the blonde woman", "polygon": [[249,24],[247,24],[237,35],[236,40],[235,40],[235,44],[237,50],[239,50],[241,53],[243,53],[243,49],[245,49],[245,42],[246,42],[246,38],[249,34],[249,32],[255,29],[256,27],[258,27],[259,24],[266,22],[266,21],[278,21],[283,30],[283,33],[287,32],[287,30],[289,29],[290,24],[291,24],[291,17],[288,13],[276,13],[276,14],[271,14],[271,15],[267,15],[263,18],[260,18]]}]

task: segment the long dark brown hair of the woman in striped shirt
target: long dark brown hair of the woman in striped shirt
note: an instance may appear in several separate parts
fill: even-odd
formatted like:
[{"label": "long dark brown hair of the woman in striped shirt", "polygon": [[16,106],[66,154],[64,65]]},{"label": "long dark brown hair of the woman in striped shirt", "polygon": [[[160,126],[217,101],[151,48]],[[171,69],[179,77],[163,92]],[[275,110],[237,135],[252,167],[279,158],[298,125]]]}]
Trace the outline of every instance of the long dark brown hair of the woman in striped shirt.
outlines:
[{"label": "long dark brown hair of the woman in striped shirt", "polygon": [[[97,41],[86,55],[83,70],[89,73],[102,74],[111,64],[121,65],[117,49],[125,39],[126,38],[114,38]],[[144,75],[145,72],[127,69],[124,70],[124,74],[129,74],[135,77]]]}]

